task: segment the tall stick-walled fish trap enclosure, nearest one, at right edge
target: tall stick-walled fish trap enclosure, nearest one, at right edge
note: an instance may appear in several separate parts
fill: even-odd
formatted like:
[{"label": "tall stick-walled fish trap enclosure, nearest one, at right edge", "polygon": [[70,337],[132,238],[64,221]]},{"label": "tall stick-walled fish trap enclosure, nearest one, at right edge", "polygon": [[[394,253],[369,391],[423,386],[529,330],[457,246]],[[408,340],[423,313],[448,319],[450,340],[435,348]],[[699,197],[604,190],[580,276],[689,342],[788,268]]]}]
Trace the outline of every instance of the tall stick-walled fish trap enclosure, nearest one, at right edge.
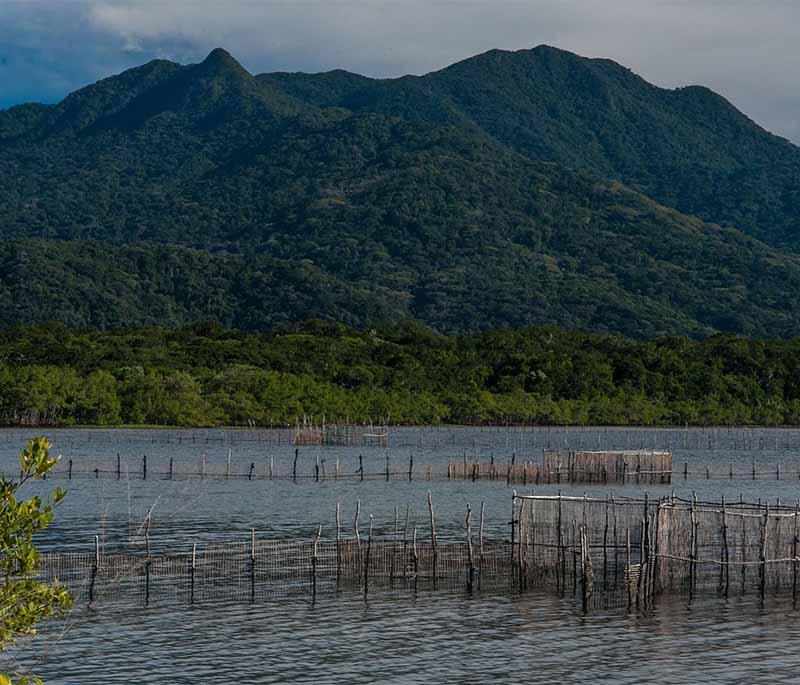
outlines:
[{"label": "tall stick-walled fish trap enclosure, nearest one, at right edge", "polygon": [[561,495],[514,502],[521,589],[571,590],[584,610],[646,609],[675,595],[797,602],[800,504]]}]

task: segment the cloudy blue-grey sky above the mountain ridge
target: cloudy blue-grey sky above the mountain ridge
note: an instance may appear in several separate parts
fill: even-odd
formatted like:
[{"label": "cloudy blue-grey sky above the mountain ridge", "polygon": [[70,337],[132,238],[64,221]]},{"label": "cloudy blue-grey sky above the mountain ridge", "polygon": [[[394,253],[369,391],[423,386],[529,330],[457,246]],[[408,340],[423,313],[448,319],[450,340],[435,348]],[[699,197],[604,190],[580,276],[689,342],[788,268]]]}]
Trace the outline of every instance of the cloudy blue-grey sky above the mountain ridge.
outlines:
[{"label": "cloudy blue-grey sky above the mountain ridge", "polygon": [[253,73],[422,74],[541,43],[700,84],[800,143],[800,0],[0,0],[0,108],[224,47]]}]

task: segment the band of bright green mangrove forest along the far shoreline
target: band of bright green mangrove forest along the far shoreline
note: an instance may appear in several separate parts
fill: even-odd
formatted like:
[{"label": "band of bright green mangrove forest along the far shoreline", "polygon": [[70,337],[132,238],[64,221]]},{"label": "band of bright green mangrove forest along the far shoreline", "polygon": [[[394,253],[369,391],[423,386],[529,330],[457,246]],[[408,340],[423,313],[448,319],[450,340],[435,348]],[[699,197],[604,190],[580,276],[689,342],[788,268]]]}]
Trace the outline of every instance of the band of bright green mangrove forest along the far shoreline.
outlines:
[{"label": "band of bright green mangrove forest along the far shoreline", "polygon": [[800,339],[635,341],[551,327],[442,336],[415,322],[270,333],[216,324],[0,333],[6,425],[800,424]]}]

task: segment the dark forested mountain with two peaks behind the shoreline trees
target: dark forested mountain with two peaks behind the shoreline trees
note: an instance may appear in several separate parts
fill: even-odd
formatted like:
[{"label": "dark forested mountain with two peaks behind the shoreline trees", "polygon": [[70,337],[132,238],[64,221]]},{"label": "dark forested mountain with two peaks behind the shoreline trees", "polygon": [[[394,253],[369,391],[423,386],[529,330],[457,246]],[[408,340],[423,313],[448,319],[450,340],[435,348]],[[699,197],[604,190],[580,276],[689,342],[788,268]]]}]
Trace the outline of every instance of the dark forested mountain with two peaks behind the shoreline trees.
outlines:
[{"label": "dark forested mountain with two peaks behind the shoreline trees", "polygon": [[0,323],[797,335],[798,160],[548,47],[390,80],[158,60],[0,112]]}]

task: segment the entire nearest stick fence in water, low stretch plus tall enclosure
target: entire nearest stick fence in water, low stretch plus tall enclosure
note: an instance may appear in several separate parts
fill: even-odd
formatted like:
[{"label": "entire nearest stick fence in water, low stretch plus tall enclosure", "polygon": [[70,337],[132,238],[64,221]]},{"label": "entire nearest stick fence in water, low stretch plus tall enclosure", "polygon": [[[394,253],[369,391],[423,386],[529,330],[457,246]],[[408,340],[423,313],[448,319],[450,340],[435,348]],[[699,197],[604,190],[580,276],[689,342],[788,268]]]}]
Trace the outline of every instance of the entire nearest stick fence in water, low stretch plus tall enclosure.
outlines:
[{"label": "entire nearest stick fence in water, low stretch plus tall enclosure", "polygon": [[[304,540],[213,544],[167,554],[48,552],[41,576],[78,600],[250,600],[390,588],[574,596],[584,611],[648,610],[660,597],[689,600],[798,593],[800,506],[514,495],[510,539],[485,539],[483,506],[467,509],[461,539],[437,536],[432,500],[425,525],[401,522]],[[148,544],[149,550],[149,544]]]}]

